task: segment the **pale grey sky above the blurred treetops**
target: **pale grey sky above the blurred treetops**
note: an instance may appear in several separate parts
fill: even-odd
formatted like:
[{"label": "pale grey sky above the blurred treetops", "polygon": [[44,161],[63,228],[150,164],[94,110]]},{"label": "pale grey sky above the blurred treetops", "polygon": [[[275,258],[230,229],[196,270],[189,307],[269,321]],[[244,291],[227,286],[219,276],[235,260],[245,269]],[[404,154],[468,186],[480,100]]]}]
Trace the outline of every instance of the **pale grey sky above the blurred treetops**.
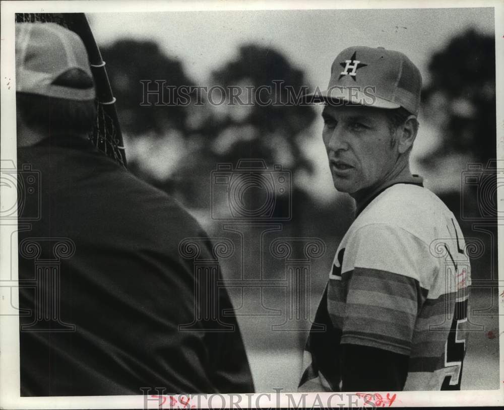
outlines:
[{"label": "pale grey sky above the blurred treetops", "polygon": [[469,27],[493,34],[493,9],[268,10],[89,14],[99,44],[122,37],[156,40],[184,69],[204,83],[211,70],[255,42],[277,48],[326,86],[336,55],[352,45],[402,51],[428,81],[429,56]]}]

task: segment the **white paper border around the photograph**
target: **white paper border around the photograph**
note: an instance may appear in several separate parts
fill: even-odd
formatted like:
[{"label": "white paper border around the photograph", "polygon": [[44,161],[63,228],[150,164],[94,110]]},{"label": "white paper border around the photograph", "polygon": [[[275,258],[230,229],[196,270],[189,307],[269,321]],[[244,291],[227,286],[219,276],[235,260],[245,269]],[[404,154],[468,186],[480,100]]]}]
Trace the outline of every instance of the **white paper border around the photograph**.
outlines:
[{"label": "white paper border around the photograph", "polygon": [[[142,12],[142,11],[192,11],[192,10],[289,10],[289,9],[413,9],[413,8],[463,8],[492,7],[495,16],[495,64],[496,64],[496,115],[497,115],[497,158],[504,158],[504,2],[481,1],[475,5],[471,1],[173,1],[173,2],[132,2],[121,1],[54,1],[54,2],[7,2],[1,4],[1,149],[2,161],[16,163],[16,112],[15,112],[15,58],[14,58],[14,13],[22,12]],[[3,203],[14,203],[16,198],[12,190],[0,186],[0,198]],[[503,212],[504,192],[498,190],[498,212]],[[9,310],[8,304],[18,305],[17,292],[11,293],[13,284],[17,284],[17,249],[11,249],[11,243],[17,243],[17,224],[0,223],[0,407],[1,408],[144,408],[145,396],[77,396],[77,397],[20,397],[19,370],[19,317],[2,314]],[[498,225],[498,239],[504,238],[504,225]],[[500,244],[499,244],[500,245]],[[499,278],[504,272],[504,246],[498,246]],[[502,284],[502,279],[499,281]],[[15,286],[15,285],[14,285]],[[499,287],[499,295],[504,287]],[[499,332],[504,329],[504,298],[499,297]],[[499,338],[499,357],[504,358],[504,338]],[[443,392],[397,392],[393,406],[496,406],[504,404],[504,367],[500,364],[500,389],[462,390]],[[384,397],[387,392],[380,392]],[[154,394],[154,392],[153,392]],[[234,395],[237,402],[237,395]],[[210,396],[209,396],[210,397]],[[231,407],[233,397],[222,395],[208,399],[200,398],[199,407]],[[304,402],[303,402],[304,397]],[[192,401],[192,404],[195,402]],[[256,393],[241,395],[240,405],[261,407],[291,407],[293,403],[305,406],[362,406],[362,397],[355,393]],[[159,408],[156,400],[149,400],[149,408]],[[165,408],[169,408],[166,404]]]}]

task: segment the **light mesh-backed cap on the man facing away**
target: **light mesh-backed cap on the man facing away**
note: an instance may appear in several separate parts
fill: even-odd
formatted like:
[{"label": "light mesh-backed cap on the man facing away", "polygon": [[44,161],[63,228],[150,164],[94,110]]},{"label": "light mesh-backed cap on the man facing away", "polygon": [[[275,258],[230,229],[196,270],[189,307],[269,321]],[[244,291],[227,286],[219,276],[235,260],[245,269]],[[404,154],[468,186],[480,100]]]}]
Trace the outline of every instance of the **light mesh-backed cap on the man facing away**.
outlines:
[{"label": "light mesh-backed cap on the man facing away", "polygon": [[86,48],[76,33],[55,23],[16,24],[17,92],[93,100],[94,87],[80,89],[53,84],[71,69],[82,70],[93,78]]}]

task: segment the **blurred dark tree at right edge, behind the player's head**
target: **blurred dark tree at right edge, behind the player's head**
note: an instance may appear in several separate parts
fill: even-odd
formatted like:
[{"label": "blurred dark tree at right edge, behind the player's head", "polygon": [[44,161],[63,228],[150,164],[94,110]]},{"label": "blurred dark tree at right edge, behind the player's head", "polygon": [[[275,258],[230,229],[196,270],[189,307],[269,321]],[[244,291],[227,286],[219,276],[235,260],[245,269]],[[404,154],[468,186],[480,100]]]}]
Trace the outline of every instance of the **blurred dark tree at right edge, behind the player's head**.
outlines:
[{"label": "blurred dark tree at right edge, behind the player's head", "polygon": [[495,40],[473,29],[432,55],[431,82],[422,90],[423,112],[442,141],[429,165],[451,154],[486,163],[495,158]]}]

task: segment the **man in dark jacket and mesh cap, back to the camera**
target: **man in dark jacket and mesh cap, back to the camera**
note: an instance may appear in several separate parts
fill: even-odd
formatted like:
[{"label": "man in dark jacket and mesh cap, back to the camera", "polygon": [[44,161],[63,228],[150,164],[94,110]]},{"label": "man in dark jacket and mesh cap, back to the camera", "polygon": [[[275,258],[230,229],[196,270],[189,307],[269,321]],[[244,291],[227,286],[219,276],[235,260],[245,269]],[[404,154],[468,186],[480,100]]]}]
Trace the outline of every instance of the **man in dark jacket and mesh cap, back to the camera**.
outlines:
[{"label": "man in dark jacket and mesh cap, back to the camera", "polygon": [[16,99],[18,180],[40,175],[40,201],[19,213],[21,395],[253,391],[226,289],[179,250],[190,238],[208,262],[209,238],[88,138],[95,89],[74,32],[16,25]]}]

